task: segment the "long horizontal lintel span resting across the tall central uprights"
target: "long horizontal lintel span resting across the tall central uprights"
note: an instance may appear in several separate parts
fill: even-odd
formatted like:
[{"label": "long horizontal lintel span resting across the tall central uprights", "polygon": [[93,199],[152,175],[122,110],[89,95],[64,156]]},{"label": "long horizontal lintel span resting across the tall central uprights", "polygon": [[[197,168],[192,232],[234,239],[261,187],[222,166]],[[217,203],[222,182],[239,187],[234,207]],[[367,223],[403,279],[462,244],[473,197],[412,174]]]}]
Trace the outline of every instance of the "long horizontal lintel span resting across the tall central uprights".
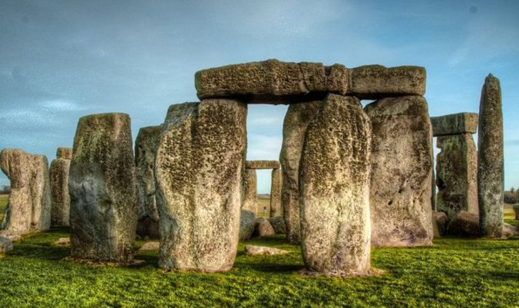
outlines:
[{"label": "long horizontal lintel span resting across the tall central uprights", "polygon": [[246,102],[291,104],[322,100],[327,93],[377,99],[422,96],[426,70],[420,66],[386,68],[381,65],[347,69],[342,64],[266,60],[197,71],[197,96],[242,98]]}]

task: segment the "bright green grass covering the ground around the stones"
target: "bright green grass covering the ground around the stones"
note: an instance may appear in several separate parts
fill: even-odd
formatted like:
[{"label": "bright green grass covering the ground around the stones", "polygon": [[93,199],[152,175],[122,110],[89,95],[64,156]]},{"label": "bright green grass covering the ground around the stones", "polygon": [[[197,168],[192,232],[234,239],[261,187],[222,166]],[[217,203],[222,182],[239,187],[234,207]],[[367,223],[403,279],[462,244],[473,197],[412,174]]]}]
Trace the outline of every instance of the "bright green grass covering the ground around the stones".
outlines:
[{"label": "bright green grass covering the ground around the stones", "polygon": [[[374,248],[381,277],[300,276],[300,248],[282,236],[248,244],[282,256],[244,255],[227,273],[166,273],[156,252],[136,267],[92,267],[52,246],[64,229],[30,235],[0,259],[0,307],[518,307],[519,237],[439,239],[429,248]],[[140,246],[143,242],[138,242]]]}]

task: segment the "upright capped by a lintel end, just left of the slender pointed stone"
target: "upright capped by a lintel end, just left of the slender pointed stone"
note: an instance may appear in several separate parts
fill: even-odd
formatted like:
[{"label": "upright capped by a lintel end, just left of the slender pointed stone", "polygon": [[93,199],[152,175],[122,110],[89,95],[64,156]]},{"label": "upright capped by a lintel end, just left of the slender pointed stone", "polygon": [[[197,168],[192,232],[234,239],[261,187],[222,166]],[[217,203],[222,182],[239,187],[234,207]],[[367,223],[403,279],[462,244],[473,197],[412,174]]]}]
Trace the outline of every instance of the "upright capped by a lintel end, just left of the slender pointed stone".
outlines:
[{"label": "upright capped by a lintel end, just left of the slender pointed stone", "polygon": [[446,212],[450,219],[460,210],[479,215],[477,150],[472,138],[477,114],[450,114],[430,120],[441,150],[436,158],[437,210]]}]

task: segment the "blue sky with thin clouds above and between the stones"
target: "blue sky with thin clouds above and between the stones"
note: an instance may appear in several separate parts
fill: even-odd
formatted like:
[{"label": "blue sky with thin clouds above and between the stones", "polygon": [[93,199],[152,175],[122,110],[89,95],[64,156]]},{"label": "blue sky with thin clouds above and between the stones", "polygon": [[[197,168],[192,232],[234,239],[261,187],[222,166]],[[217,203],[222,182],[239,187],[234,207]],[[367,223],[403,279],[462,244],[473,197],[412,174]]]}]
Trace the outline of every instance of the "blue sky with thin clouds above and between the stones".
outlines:
[{"label": "blue sky with thin clouds above and between the stones", "polygon": [[[55,158],[78,118],[139,127],[195,101],[194,72],[277,58],[427,69],[431,116],[501,80],[505,187],[519,187],[519,1],[0,1],[0,148]],[[286,106],[250,105],[248,159],[277,159]],[[9,181],[1,174],[0,185]],[[269,192],[270,172],[258,174]]]}]

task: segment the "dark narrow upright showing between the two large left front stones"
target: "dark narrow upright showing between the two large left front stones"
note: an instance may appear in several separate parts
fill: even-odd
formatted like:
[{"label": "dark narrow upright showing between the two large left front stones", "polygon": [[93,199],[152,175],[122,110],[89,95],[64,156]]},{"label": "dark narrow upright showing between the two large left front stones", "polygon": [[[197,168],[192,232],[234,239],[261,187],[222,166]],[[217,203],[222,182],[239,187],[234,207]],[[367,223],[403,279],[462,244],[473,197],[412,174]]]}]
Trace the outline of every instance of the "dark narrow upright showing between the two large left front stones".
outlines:
[{"label": "dark narrow upright showing between the two large left front stones", "polygon": [[135,171],[139,199],[137,234],[158,239],[158,210],[156,205],[155,154],[162,126],[139,129],[135,140]]}]

